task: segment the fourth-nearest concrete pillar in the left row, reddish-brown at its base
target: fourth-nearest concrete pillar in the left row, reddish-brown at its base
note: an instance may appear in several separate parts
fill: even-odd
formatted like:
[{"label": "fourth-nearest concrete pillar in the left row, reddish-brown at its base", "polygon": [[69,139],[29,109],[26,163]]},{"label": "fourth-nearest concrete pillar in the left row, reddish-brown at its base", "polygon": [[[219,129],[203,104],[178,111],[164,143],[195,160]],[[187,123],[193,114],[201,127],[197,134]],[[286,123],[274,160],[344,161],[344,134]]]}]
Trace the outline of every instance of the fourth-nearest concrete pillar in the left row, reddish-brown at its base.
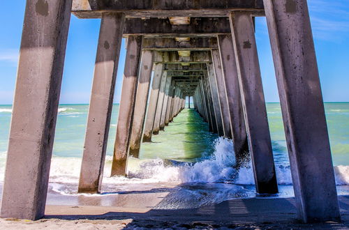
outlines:
[{"label": "fourth-nearest concrete pillar in the left row, reddish-brown at its base", "polygon": [[140,143],[144,128],[145,113],[147,111],[147,101],[152,70],[153,52],[151,50],[143,50],[130,139],[130,154],[134,158],[138,158],[140,154]]}]

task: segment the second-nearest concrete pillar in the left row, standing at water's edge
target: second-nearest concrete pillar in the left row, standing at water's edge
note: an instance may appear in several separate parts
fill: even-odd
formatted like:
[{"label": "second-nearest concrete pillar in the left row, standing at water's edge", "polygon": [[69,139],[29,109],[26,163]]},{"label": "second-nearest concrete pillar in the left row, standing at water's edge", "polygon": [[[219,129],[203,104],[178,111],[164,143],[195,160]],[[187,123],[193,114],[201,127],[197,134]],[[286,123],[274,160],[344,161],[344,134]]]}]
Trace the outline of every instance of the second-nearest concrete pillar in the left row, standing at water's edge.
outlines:
[{"label": "second-nearest concrete pillar in the left row, standing at water's edge", "polygon": [[102,17],[78,192],[101,192],[124,19],[123,13]]}]

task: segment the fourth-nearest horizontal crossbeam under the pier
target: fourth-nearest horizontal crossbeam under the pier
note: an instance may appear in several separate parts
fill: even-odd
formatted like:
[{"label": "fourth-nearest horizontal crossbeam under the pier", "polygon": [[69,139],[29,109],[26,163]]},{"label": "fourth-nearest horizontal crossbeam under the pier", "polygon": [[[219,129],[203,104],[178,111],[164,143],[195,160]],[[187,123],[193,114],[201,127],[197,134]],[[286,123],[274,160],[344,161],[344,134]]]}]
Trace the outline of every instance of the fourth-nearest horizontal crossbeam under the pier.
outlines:
[{"label": "fourth-nearest horizontal crossbeam under the pier", "polygon": [[211,63],[211,52],[193,51],[191,56],[179,56],[178,52],[155,52],[155,63]]}]

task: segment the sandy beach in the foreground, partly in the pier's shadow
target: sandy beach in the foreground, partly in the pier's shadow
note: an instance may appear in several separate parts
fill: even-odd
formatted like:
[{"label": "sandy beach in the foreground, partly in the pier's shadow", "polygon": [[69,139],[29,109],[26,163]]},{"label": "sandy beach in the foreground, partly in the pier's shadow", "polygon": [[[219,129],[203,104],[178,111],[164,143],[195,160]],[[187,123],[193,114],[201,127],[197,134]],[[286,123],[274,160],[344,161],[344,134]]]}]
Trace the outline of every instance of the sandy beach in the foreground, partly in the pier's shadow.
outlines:
[{"label": "sandy beach in the foreground, partly in the pier's shadow", "polygon": [[[161,200],[161,193],[154,193]],[[138,194],[139,197],[143,197]],[[91,198],[91,197],[90,197]],[[129,197],[130,200],[132,197]],[[82,203],[87,204],[89,199]],[[152,199],[155,202],[155,198]],[[96,200],[91,199],[92,204]],[[147,203],[147,202],[145,202]],[[131,205],[133,204],[133,205]],[[149,202],[148,204],[149,205]],[[0,219],[1,229],[349,229],[349,196],[339,197],[342,222],[302,224],[293,198],[233,199],[200,208],[161,210],[140,200],[118,206],[47,205],[43,220]]]}]

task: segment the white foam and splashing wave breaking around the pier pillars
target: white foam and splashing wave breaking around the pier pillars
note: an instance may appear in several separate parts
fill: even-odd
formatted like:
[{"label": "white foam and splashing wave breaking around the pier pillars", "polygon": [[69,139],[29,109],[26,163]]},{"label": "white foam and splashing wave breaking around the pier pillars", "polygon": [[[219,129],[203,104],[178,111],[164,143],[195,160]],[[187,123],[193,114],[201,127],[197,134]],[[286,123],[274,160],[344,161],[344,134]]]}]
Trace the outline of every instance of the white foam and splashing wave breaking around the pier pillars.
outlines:
[{"label": "white foam and splashing wave breaking around the pier pillars", "polygon": [[[0,153],[0,178],[6,161],[6,152]],[[150,183],[234,183],[237,185],[254,185],[251,162],[239,171],[234,169],[235,157],[232,142],[219,138],[215,142],[214,155],[195,164],[172,162],[169,160],[140,160],[130,158],[128,177],[109,177],[112,156],[107,155],[103,177],[103,190],[113,191],[116,185],[150,184]],[[80,176],[81,158],[52,158],[50,184],[52,190],[61,194],[76,194]],[[349,166],[334,167],[337,185],[349,185]],[[276,165],[276,177],[279,185],[292,185],[289,165]]]}]

